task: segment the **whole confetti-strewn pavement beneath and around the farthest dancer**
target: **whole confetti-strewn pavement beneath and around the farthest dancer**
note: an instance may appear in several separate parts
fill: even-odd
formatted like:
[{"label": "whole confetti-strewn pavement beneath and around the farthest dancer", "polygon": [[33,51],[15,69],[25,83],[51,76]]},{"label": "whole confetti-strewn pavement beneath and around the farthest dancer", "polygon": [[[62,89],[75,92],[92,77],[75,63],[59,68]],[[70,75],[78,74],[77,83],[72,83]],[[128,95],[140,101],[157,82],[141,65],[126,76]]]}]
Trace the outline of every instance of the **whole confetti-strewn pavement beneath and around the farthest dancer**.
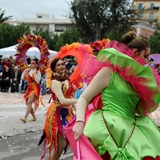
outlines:
[{"label": "whole confetti-strewn pavement beneath and around the farthest dancer", "polygon": [[[42,98],[49,106],[49,95]],[[40,160],[43,153],[43,146],[37,144],[42,134],[46,109],[40,105],[36,112],[37,121],[22,123],[20,118],[26,107],[22,100],[22,94],[0,92],[0,160]],[[47,160],[47,155],[44,160]],[[72,155],[69,149],[61,159],[71,160]]]}]

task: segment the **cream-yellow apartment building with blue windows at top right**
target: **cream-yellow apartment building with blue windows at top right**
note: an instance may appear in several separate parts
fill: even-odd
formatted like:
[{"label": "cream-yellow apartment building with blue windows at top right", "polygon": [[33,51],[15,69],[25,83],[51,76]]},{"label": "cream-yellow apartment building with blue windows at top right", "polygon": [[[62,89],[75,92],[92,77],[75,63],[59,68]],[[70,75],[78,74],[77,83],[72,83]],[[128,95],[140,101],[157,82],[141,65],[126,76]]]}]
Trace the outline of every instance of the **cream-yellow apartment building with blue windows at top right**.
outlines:
[{"label": "cream-yellow apartment building with blue windows at top right", "polygon": [[133,0],[132,4],[138,12],[138,22],[154,25],[160,21],[160,0]]}]

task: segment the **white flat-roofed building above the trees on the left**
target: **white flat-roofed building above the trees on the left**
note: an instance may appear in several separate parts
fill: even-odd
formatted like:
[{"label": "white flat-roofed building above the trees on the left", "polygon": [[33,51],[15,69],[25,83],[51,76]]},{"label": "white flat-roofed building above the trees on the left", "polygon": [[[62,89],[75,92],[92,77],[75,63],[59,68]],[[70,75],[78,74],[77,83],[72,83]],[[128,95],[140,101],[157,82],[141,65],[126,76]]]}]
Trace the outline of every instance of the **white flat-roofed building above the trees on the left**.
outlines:
[{"label": "white flat-roofed building above the trees on the left", "polygon": [[50,17],[49,14],[45,13],[37,13],[35,18],[23,18],[23,22],[30,26],[31,31],[37,27],[42,27],[43,29],[49,28],[49,31],[58,35],[72,25],[72,20],[69,18]]}]

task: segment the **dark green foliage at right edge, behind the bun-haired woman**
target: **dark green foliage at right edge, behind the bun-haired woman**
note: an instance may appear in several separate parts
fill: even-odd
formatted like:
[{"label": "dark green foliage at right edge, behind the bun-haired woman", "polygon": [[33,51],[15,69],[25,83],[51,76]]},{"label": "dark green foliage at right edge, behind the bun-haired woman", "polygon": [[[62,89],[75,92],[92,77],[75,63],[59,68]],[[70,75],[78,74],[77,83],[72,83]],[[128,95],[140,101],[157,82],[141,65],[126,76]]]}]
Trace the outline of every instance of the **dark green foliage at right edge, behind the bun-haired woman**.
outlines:
[{"label": "dark green foliage at right edge, behind the bun-haired woman", "polygon": [[154,35],[150,37],[148,42],[151,46],[151,53],[160,54],[160,33],[156,31]]}]

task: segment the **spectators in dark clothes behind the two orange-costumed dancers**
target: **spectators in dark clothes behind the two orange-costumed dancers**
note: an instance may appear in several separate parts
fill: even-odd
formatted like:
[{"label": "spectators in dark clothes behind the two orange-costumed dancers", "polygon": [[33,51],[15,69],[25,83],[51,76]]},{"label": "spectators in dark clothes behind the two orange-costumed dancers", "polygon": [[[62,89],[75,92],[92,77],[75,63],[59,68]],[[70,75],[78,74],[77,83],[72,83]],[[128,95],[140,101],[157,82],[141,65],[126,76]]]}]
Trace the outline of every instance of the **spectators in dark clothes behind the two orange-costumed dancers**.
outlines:
[{"label": "spectators in dark clothes behind the two orange-costumed dancers", "polygon": [[[30,65],[31,60],[28,57],[27,62]],[[66,64],[66,72],[67,75],[70,76],[74,71],[77,63],[76,60],[69,56],[64,60]],[[1,57],[0,59],[0,91],[1,92],[17,92],[17,93],[25,93],[27,89],[27,81],[25,79],[21,79],[22,71],[19,66],[16,65],[15,59],[12,56],[9,58]],[[46,87],[46,74],[43,74],[41,77],[41,94],[45,95],[48,92]]]}]

